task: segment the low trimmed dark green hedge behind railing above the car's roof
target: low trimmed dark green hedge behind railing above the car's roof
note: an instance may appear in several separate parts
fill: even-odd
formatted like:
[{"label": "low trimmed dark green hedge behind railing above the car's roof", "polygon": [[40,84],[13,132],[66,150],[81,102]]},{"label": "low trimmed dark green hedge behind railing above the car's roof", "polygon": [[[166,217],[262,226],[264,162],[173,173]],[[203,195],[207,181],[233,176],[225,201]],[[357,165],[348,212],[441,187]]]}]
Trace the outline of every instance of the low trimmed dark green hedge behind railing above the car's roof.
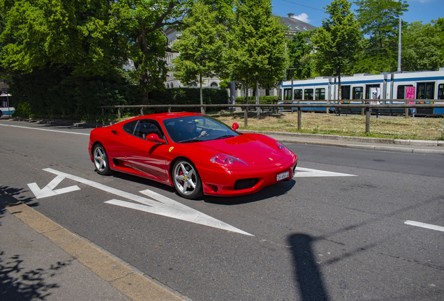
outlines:
[{"label": "low trimmed dark green hedge behind railing above the car's roof", "polygon": [[[214,88],[202,89],[203,104],[221,105],[227,104],[228,91]],[[164,112],[168,110],[168,104],[172,105],[196,105],[192,108],[172,108],[172,111],[200,112],[200,91],[198,88],[169,88],[165,91],[152,91],[149,93],[149,105],[165,105],[160,109],[149,109],[150,113]],[[226,108],[221,108],[226,109]],[[212,108],[212,111],[219,109]],[[145,111],[144,111],[145,113]]]}]

